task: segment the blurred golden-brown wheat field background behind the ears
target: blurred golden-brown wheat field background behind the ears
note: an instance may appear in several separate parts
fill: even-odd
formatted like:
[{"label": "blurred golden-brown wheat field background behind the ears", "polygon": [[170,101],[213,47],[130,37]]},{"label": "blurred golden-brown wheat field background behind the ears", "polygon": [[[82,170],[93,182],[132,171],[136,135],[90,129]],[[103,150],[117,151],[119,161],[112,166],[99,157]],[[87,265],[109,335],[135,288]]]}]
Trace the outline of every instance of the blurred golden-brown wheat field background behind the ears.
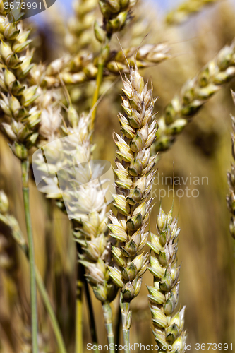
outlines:
[{"label": "blurred golden-brown wheat field background behind the ears", "polygon": [[[140,71],[146,81],[152,80],[154,96],[159,96],[155,104],[155,109],[159,111],[157,119],[162,116],[166,104],[179,94],[182,85],[196,76],[222,47],[230,45],[235,36],[234,1],[215,1],[215,4],[206,6],[200,13],[188,16],[183,23],[166,23],[166,13],[175,7],[176,4],[169,4],[165,11],[159,11],[157,4],[139,1],[133,11],[133,22],[118,34],[124,48],[130,43],[131,47],[138,47],[142,41],[143,44],[166,42],[171,48],[171,59]],[[43,26],[34,23],[32,18],[28,20],[33,28],[31,37],[34,39],[30,45],[35,47],[35,61],[48,64],[67,52],[68,18],[63,18],[60,4],[55,4],[42,15]],[[95,39],[92,45],[97,49]],[[112,40],[112,49],[120,50],[116,37]],[[101,88],[104,96],[97,106],[95,121],[93,142],[97,147],[94,158],[110,161],[112,165],[116,150],[112,134],[113,131],[119,131],[117,112],[120,111],[121,87],[121,78],[114,85],[111,78],[104,78]],[[181,228],[177,255],[178,263],[181,264],[179,301],[186,305],[184,327],[187,330],[187,345],[192,345],[192,352],[195,352],[195,343],[235,345],[235,247],[234,239],[229,234],[230,217],[226,205],[227,171],[232,160],[230,114],[235,114],[231,89],[235,90],[234,81],[224,85],[210,98],[181,135],[177,136],[174,145],[167,152],[159,154],[159,184],[156,182],[152,190],[156,199],[150,215],[150,227],[155,232],[159,195],[164,196],[164,190],[168,193],[169,189],[173,189],[170,182],[162,184],[161,178],[173,178],[174,175],[175,179],[178,177],[181,181],[181,185],[176,183],[174,191],[162,197],[162,206],[164,210],[171,208],[174,192],[174,213],[179,215]],[[71,100],[79,114],[88,112],[94,90],[95,80],[69,88]],[[66,100],[61,101],[66,104]],[[190,184],[189,177],[197,177],[200,184]],[[203,177],[207,178],[204,183],[201,182]],[[183,180],[186,179],[188,181],[184,185]],[[191,197],[186,197],[186,187],[198,189],[198,194],[195,193],[198,197],[193,197],[191,191]],[[3,134],[0,135],[0,189],[7,194],[11,214],[18,220],[26,239],[20,162],[8,148]],[[184,196],[179,197],[182,192]],[[37,190],[33,177],[30,178],[30,210],[35,263],[52,299],[66,349],[68,353],[74,352],[77,254],[71,224],[68,216],[56,207],[56,202],[45,198]],[[27,353],[31,352],[28,261],[11,239],[8,228],[1,223],[0,235],[0,352]],[[1,241],[5,238],[6,247]],[[138,298],[131,302],[131,343],[151,345],[155,340],[150,329],[151,313],[145,285],[152,285],[152,275],[148,271],[143,277]],[[102,307],[91,289],[90,293],[95,309],[97,336],[99,342],[104,344],[107,338],[103,328]],[[43,347],[40,352],[59,352],[40,294],[37,295],[37,301],[40,345]],[[118,305],[118,299],[115,299],[112,303],[114,316],[118,312]],[[88,352],[86,345],[91,340],[85,305],[83,336],[83,352]]]}]

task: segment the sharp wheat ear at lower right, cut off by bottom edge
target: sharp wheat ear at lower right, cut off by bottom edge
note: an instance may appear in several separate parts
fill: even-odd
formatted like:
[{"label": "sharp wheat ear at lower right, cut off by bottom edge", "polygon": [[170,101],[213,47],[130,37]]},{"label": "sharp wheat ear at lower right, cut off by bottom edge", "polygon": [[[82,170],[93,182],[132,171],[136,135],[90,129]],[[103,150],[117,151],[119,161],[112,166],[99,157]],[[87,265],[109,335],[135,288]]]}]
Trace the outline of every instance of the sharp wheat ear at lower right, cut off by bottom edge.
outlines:
[{"label": "sharp wheat ear at lower right, cut off by bottom edge", "polygon": [[180,229],[172,218],[172,209],[164,213],[160,206],[157,216],[157,235],[150,232],[150,273],[154,275],[154,286],[147,287],[152,313],[155,340],[159,352],[185,352],[186,331],[183,331],[184,311],[174,314],[179,298],[179,270],[174,261]]}]

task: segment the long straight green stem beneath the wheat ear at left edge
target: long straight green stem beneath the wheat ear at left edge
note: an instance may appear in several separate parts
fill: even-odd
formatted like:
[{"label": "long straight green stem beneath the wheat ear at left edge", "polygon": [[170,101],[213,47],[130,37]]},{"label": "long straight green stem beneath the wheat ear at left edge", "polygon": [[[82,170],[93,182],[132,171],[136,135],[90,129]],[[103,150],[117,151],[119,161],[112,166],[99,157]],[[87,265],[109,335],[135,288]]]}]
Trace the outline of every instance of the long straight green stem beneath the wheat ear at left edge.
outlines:
[{"label": "long straight green stem beneath the wheat ear at left edge", "polygon": [[25,222],[28,235],[28,254],[30,261],[30,299],[31,299],[31,325],[32,325],[32,352],[38,353],[37,345],[37,290],[35,279],[35,254],[32,238],[32,224],[30,218],[30,205],[29,205],[29,160],[21,162],[22,169],[22,182],[23,182],[23,201],[25,207]]}]

